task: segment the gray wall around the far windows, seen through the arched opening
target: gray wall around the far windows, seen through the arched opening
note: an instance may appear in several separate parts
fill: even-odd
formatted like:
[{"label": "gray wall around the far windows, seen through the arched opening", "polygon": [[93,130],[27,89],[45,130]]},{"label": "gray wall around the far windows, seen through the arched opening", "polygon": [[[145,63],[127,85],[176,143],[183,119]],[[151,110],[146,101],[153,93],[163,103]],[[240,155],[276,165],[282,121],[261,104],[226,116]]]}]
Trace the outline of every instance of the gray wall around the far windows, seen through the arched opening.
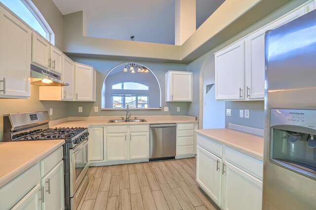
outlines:
[{"label": "gray wall around the far windows, seen through the arched opening", "polygon": [[[112,104],[112,94],[144,94],[149,96],[150,108],[159,108],[160,107],[160,88],[158,81],[155,75],[150,71],[148,73],[137,72],[131,73],[129,70],[124,72],[123,69],[126,64],[119,65],[111,71],[111,73],[106,77],[105,85],[105,107],[103,108],[113,108]],[[113,72],[113,73],[112,73]],[[149,90],[113,90],[112,85],[122,83],[122,82],[136,82],[149,87]]]}]

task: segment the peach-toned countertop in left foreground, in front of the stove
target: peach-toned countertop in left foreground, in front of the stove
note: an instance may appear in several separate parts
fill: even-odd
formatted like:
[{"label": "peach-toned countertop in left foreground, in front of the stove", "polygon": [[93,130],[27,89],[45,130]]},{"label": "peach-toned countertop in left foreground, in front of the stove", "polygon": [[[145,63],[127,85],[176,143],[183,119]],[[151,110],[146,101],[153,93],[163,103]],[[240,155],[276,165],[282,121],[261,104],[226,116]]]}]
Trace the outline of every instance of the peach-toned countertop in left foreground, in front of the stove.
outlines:
[{"label": "peach-toned countertop in left foreground, in front of the stove", "polygon": [[0,142],[0,187],[62,146],[65,140]]}]

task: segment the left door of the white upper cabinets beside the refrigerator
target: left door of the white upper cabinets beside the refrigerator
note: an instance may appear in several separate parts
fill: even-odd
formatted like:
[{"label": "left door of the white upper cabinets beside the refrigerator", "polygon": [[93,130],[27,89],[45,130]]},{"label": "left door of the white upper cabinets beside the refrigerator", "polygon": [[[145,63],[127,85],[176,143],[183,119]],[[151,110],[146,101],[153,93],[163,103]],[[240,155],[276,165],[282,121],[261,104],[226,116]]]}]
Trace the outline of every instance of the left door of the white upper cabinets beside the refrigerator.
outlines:
[{"label": "left door of the white upper cabinets beside the refrigerator", "polygon": [[244,41],[215,54],[215,99],[244,99]]}]

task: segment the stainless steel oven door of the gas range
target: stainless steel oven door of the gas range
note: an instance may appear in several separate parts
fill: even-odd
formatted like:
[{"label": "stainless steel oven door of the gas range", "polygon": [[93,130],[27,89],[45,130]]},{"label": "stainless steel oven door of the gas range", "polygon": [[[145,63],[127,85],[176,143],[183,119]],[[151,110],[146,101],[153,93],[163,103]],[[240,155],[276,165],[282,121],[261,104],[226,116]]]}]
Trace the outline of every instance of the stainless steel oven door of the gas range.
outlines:
[{"label": "stainless steel oven door of the gas range", "polygon": [[70,150],[70,197],[73,197],[88,172],[88,138]]}]

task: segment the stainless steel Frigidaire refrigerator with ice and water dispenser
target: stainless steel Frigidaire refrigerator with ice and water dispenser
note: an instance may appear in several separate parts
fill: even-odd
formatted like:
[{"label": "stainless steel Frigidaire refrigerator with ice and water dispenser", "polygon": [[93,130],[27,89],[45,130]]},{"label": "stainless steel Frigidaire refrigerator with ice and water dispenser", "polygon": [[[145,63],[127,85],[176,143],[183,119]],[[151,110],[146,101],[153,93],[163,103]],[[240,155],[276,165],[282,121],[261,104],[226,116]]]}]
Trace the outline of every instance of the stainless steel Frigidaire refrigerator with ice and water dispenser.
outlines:
[{"label": "stainless steel Frigidaire refrigerator with ice and water dispenser", "polygon": [[316,11],[265,41],[263,210],[316,210]]}]

